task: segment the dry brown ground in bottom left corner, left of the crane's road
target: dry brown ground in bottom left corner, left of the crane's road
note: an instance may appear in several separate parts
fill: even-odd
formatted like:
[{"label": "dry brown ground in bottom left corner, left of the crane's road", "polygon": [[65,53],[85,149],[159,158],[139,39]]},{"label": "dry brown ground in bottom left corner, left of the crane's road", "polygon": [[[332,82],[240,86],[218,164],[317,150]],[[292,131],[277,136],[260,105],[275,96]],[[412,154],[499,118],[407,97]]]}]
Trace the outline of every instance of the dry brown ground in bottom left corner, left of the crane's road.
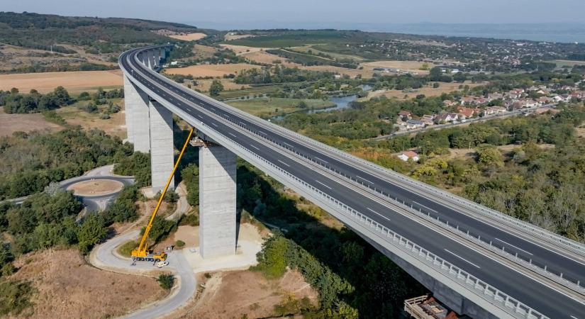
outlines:
[{"label": "dry brown ground in bottom left corner, left of the crane's road", "polygon": [[111,318],[163,298],[145,276],[115,274],[91,267],[77,250],[44,250],[19,257],[11,279],[33,282],[30,318]]}]

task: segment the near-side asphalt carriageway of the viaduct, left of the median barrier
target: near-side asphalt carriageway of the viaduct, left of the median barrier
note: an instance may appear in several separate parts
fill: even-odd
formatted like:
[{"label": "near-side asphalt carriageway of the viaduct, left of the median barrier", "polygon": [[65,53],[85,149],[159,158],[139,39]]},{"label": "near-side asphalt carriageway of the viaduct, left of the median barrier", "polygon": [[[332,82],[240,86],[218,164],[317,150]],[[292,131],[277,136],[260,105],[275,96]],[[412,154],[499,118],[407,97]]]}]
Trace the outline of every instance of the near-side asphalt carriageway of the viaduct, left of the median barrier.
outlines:
[{"label": "near-side asphalt carriageway of the viaduct, left of the median barrier", "polygon": [[[145,83],[149,81],[139,74],[134,75],[139,80],[145,81]],[[345,184],[339,184],[337,181],[330,179],[330,177],[318,175],[318,172],[311,172],[303,163],[296,162],[281,152],[273,150],[272,147],[269,147],[270,145],[264,145],[250,138],[250,136],[242,134],[240,131],[234,130],[220,121],[216,121],[216,118],[208,116],[207,113],[200,111],[193,105],[176,99],[176,97],[172,98],[164,91],[160,91],[159,93],[165,99],[173,99],[172,102],[175,106],[182,108],[183,111],[193,116],[191,119],[186,119],[187,121],[195,122],[192,124],[196,125],[196,121],[202,121],[207,125],[213,125],[219,132],[222,132],[226,136],[231,136],[231,139],[247,147],[248,150],[257,152],[257,154],[273,164],[276,164],[282,169],[286,169],[291,174],[295,174],[295,176],[305,180],[308,184],[321,189],[324,193],[334,198],[343,198],[344,203],[348,206],[352,206],[352,208],[364,213],[369,218],[397,231],[409,240],[449,260],[457,265],[457,267],[461,267],[470,274],[474,274],[479,279],[509,293],[521,302],[533,306],[536,310],[549,315],[550,318],[571,318],[570,315],[584,313],[585,308],[583,303],[579,303],[578,301],[567,298],[561,293],[552,291],[547,286],[537,283],[533,279],[528,279],[493,259],[465,245],[450,240],[439,233],[435,233],[434,231],[421,231],[421,228],[423,228],[422,225],[399,213],[391,211],[386,204],[380,201],[374,201],[367,196],[356,196],[355,190],[350,189]],[[193,121],[194,119],[196,121]],[[530,293],[526,293],[526,291],[530,291]]]}]

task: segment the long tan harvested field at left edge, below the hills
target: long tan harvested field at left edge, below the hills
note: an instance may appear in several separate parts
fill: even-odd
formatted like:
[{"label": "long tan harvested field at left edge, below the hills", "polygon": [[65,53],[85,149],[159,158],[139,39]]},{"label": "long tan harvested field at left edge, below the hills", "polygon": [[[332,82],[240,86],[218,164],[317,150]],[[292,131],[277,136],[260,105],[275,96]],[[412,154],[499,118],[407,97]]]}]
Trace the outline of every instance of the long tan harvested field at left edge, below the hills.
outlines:
[{"label": "long tan harvested field at left edge, below the hills", "polygon": [[0,74],[0,89],[16,87],[21,92],[36,89],[41,93],[52,91],[57,86],[65,87],[69,93],[93,91],[99,87],[111,89],[122,86],[122,71],[72,71]]}]

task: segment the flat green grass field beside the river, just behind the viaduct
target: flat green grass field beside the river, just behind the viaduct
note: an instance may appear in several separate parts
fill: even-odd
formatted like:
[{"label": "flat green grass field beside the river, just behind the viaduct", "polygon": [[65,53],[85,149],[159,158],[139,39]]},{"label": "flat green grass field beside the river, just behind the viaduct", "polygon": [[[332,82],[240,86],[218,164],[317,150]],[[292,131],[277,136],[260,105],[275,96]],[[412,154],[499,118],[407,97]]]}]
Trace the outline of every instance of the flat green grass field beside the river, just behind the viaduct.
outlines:
[{"label": "flat green grass field beside the river, just behind the viaduct", "polygon": [[301,111],[299,103],[305,101],[308,108],[328,108],[334,106],[334,103],[323,100],[303,100],[303,99],[250,99],[243,101],[228,101],[230,106],[239,108],[242,111],[260,117],[277,116],[283,113],[293,113]]}]

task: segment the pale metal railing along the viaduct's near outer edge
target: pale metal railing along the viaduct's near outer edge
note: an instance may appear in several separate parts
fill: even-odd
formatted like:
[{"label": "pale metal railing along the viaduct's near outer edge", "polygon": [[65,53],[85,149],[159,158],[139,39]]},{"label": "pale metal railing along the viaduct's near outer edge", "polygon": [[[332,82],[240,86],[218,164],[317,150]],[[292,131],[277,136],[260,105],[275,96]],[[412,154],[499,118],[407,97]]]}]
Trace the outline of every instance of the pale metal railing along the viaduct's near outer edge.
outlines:
[{"label": "pale metal railing along the viaduct's near outer edge", "polygon": [[[207,110],[206,110],[207,111]],[[314,186],[306,183],[305,181],[295,177],[294,175],[286,172],[284,169],[281,169],[277,165],[273,164],[272,162],[267,161],[260,155],[251,152],[243,145],[240,145],[235,140],[228,138],[227,136],[223,135],[222,133],[214,130],[210,126],[206,125],[205,123],[199,121],[200,125],[208,128],[215,132],[217,135],[220,135],[221,138],[230,142],[232,147],[238,148],[240,152],[247,154],[248,156],[255,157],[255,159],[259,160],[260,162],[264,162],[272,169],[275,169],[280,174],[284,174],[286,178],[291,181],[296,182],[299,186],[303,187],[307,191],[311,191],[316,194],[316,197],[321,198],[321,200],[328,201],[330,204],[333,204],[334,207],[338,208],[340,211],[345,211],[346,217],[352,218],[353,220],[360,222],[370,228],[370,230],[375,230],[378,233],[378,237],[383,239],[386,242],[389,242],[394,247],[402,250],[410,254],[412,257],[415,257],[420,262],[428,265],[429,267],[433,267],[436,271],[445,274],[446,276],[450,277],[452,280],[459,282],[467,287],[470,291],[473,291],[477,296],[483,298],[490,303],[498,304],[498,308],[510,313],[511,315],[515,316],[516,318],[530,318],[530,319],[549,319],[545,315],[537,312],[533,308],[526,306],[524,303],[508,296],[506,293],[499,291],[493,286],[481,281],[477,277],[465,272],[464,270],[456,267],[455,265],[447,262],[445,259],[438,257],[437,255],[425,250],[423,247],[416,245],[414,242],[402,237],[398,233],[386,228],[384,225],[377,223],[376,221],[364,216],[362,213],[356,211],[355,209],[351,208],[350,206],[345,205],[341,201],[338,201],[335,198],[328,196],[327,194],[323,193],[319,189],[316,189]]]}]

